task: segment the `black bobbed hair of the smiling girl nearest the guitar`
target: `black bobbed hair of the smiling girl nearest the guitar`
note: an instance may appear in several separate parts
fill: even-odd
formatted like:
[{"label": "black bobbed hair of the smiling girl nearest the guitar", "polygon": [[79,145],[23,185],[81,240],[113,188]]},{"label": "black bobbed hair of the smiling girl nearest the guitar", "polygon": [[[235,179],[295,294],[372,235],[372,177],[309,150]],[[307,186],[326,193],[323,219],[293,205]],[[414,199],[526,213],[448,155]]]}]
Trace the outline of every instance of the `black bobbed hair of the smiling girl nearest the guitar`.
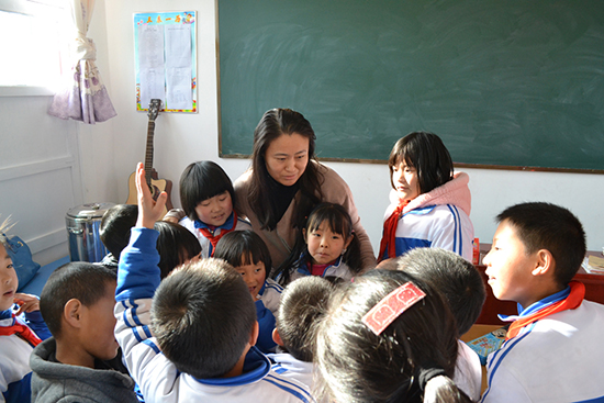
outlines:
[{"label": "black bobbed hair of the smiling girl nearest the guitar", "polygon": [[235,190],[228,175],[213,161],[190,164],[180,176],[180,202],[184,214],[193,221],[199,220],[195,208],[199,203],[215,195],[228,192],[235,205]]}]

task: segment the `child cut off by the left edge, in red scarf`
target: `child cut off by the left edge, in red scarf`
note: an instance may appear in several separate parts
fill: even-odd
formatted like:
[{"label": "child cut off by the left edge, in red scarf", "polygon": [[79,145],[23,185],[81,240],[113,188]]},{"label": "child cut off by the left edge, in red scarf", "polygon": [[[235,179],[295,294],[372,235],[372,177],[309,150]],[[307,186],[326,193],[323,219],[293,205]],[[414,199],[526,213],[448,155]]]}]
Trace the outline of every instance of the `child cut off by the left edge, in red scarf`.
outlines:
[{"label": "child cut off by the left edge, in red scarf", "polygon": [[[8,220],[0,224],[0,402],[29,403],[30,355],[51,333],[40,313],[37,298],[16,293],[19,280],[4,235],[9,228]],[[13,312],[15,304],[18,309]]]}]

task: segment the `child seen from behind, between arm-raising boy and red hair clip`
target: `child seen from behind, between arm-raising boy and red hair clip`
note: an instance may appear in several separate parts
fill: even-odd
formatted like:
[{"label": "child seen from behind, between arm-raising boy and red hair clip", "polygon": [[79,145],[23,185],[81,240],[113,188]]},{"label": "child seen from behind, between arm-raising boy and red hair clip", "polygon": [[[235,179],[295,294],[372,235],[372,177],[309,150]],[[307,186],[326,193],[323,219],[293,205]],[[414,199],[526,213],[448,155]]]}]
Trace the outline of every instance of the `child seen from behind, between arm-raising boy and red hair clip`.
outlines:
[{"label": "child seen from behind, between arm-raising boy and red hair clip", "polygon": [[268,357],[272,369],[313,389],[316,327],[327,312],[334,286],[316,276],[292,281],[281,298],[272,338],[282,349]]}]

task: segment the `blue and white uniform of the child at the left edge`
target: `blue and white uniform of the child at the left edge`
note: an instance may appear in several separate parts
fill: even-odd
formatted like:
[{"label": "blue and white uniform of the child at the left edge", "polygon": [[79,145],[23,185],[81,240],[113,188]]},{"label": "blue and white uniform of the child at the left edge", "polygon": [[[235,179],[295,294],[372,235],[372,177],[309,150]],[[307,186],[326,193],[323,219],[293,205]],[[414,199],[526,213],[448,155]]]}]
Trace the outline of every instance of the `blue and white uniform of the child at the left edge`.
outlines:
[{"label": "blue and white uniform of the child at the left edge", "polygon": [[[24,320],[23,320],[24,317]],[[12,310],[0,312],[0,326],[9,327],[15,324],[25,324],[41,338],[51,336],[40,311],[25,313],[16,318]],[[30,356],[34,347],[16,334],[0,336],[0,402],[27,403],[31,400]]]}]

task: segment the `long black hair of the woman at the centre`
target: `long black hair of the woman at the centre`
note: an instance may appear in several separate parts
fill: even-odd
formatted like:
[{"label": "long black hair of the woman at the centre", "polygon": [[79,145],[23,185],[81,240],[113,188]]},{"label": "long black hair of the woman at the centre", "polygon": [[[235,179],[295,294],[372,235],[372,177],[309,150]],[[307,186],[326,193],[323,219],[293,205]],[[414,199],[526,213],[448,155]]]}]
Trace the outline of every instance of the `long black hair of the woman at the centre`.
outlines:
[{"label": "long black hair of the woman at the centre", "polygon": [[301,228],[304,217],[323,199],[321,183],[323,176],[317,170],[314,149],[316,136],[311,123],[304,116],[291,109],[271,109],[262,115],[262,119],[254,131],[254,147],[251,152],[251,182],[249,188],[249,205],[258,217],[262,230],[272,231],[281,216],[273,211],[270,191],[270,175],[266,166],[266,152],[270,143],[281,135],[291,136],[299,134],[309,139],[309,163],[304,173],[298,180],[301,197],[294,205],[293,225]]}]

